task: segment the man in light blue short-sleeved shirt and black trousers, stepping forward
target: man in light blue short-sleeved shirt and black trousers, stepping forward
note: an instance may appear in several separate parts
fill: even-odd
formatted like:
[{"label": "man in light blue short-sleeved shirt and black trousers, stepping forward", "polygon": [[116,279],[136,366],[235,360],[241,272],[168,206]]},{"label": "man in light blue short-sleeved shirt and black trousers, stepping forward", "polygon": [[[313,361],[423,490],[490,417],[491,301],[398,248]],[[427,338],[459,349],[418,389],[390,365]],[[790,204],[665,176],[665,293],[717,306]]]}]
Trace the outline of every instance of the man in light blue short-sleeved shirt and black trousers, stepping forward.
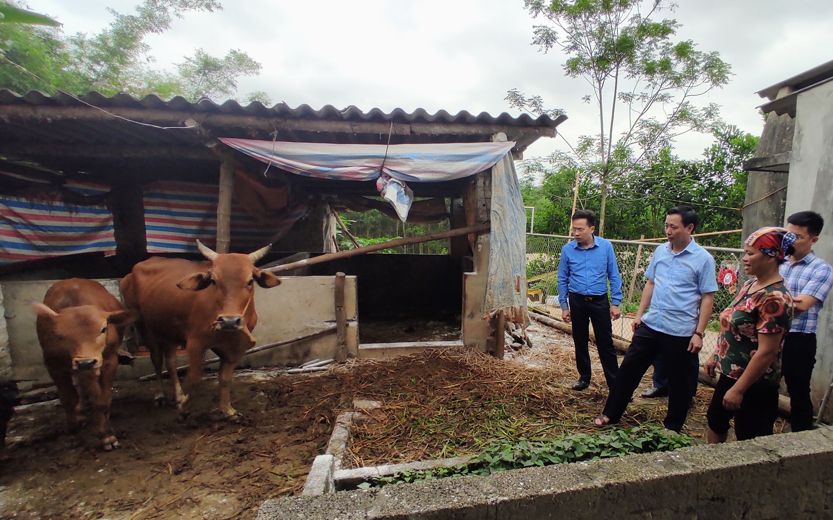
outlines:
[{"label": "man in light blue short-sleeved shirt and black trousers, stepping forward", "polygon": [[[689,353],[699,353],[703,347],[703,334],[717,290],[715,260],[691,238],[696,225],[697,214],[691,207],[676,206],[668,210],[668,242],[656,248],[645,271],[648,282],[631,324],[634,330],[631,347],[622,360],[604,411],[593,421],[596,426],[619,422],[642,376],[658,354],[669,377],[665,426],[679,432],[686,423],[691,406],[686,377]],[[651,310],[645,313],[649,304]]]}]

